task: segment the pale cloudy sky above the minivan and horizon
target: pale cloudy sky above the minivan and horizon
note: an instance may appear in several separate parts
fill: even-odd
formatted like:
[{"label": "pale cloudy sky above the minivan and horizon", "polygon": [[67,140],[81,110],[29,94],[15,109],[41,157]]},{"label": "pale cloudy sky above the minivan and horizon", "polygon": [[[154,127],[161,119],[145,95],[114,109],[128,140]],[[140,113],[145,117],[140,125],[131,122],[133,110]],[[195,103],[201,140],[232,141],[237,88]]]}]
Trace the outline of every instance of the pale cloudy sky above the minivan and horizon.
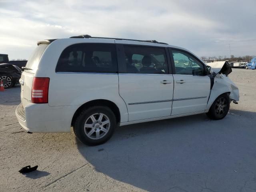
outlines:
[{"label": "pale cloudy sky above the minivan and horizon", "polygon": [[256,0],[0,0],[0,53],[10,60],[28,59],[38,40],[80,34],[157,40],[199,57],[256,55]]}]

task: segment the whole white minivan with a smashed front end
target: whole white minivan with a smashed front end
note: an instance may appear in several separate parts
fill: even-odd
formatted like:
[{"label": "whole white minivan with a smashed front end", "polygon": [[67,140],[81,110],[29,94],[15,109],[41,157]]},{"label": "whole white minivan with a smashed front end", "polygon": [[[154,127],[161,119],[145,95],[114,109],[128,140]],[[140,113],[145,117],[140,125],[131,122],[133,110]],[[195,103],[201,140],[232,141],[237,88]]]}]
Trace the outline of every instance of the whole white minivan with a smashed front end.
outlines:
[{"label": "whole white minivan with a smashed front end", "polygon": [[117,125],[201,113],[219,120],[239,92],[228,63],[217,66],[155,40],[42,40],[22,69],[16,116],[28,132],[73,127],[88,145],[106,142]]}]

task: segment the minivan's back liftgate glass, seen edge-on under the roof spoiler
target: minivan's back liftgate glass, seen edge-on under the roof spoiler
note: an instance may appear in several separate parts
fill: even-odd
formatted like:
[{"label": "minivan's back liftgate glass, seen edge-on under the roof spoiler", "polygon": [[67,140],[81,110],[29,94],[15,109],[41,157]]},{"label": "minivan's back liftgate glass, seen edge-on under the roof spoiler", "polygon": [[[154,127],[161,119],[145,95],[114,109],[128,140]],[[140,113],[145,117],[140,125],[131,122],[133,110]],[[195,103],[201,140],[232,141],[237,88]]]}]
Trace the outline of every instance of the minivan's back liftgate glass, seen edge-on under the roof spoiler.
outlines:
[{"label": "minivan's back liftgate glass, seen edge-on under the roof spoiler", "polygon": [[[32,70],[36,70],[38,67],[38,62],[44,53],[44,50],[47,48],[49,44],[40,44],[36,47],[30,58],[28,59],[28,62],[26,64],[26,68],[30,68]],[[30,70],[26,70],[26,72],[30,72]]]}]

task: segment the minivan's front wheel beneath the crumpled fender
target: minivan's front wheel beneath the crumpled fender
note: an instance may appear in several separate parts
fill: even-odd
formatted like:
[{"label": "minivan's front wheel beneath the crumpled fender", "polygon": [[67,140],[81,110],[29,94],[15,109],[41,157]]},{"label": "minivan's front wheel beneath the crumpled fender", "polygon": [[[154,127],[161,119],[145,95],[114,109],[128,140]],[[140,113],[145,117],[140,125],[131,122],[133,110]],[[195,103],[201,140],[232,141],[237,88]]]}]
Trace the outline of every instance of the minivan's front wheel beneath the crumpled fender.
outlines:
[{"label": "minivan's front wheel beneath the crumpled fender", "polygon": [[228,94],[222,94],[216,98],[206,115],[213,120],[223,119],[229,111],[230,100]]}]

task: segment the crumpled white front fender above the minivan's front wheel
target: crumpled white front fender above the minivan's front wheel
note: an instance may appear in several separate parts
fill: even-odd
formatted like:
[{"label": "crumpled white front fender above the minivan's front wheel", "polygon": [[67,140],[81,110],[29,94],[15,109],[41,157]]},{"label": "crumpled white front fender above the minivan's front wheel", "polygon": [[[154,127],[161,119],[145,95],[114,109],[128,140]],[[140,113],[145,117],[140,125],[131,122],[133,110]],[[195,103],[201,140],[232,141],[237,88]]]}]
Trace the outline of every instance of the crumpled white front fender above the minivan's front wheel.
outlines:
[{"label": "crumpled white front fender above the minivan's front wheel", "polygon": [[232,80],[230,80],[230,78],[227,76],[223,74],[217,74],[214,77],[214,84],[210,92],[210,98],[208,100],[206,110],[209,110],[214,100],[216,100],[216,98],[223,93],[230,93],[230,99],[236,101],[239,100],[239,90],[236,84],[234,84],[234,82],[232,82]]}]

